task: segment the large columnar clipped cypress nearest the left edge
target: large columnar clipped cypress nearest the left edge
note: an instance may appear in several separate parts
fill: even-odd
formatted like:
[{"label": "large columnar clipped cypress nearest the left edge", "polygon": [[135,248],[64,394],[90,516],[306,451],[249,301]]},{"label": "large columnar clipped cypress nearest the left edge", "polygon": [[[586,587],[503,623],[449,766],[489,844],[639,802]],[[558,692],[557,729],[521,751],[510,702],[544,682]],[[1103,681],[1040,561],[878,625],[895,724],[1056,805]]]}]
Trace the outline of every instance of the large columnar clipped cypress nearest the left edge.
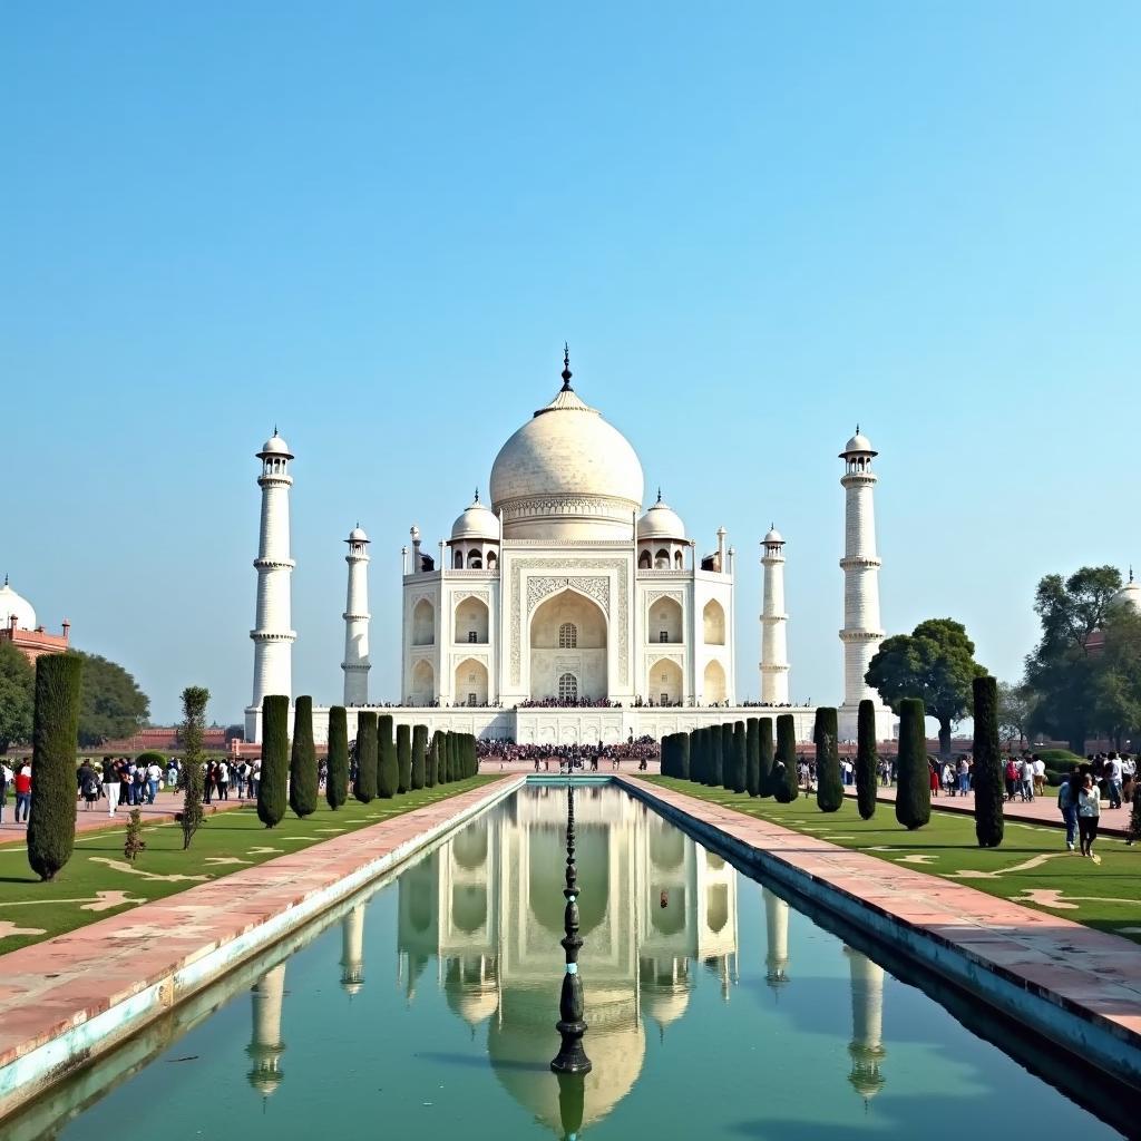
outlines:
[{"label": "large columnar clipped cypress nearest the left edge", "polygon": [[32,815],[27,863],[41,881],[54,880],[75,847],[75,751],[83,659],[44,654],[35,662],[32,714]]}]

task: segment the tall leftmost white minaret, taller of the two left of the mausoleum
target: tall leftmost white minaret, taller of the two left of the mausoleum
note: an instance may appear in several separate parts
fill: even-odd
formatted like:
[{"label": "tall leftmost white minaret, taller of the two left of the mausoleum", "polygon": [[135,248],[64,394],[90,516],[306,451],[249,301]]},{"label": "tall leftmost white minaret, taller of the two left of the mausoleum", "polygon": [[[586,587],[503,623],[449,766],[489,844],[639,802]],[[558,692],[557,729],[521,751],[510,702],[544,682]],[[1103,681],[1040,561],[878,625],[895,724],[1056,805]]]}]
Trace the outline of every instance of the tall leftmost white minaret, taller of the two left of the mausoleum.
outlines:
[{"label": "tall leftmost white minaret, taller of the two left of the mausoleum", "polygon": [[[274,429],[258,452],[261,475],[261,535],[253,566],[258,572],[258,607],[253,639],[253,699],[246,710],[246,739],[261,741],[261,699],[267,694],[293,696],[292,655],[297,634],[290,629],[290,580],[294,563],[289,553],[289,489],[293,459]],[[252,714],[252,717],[251,717]]]}]

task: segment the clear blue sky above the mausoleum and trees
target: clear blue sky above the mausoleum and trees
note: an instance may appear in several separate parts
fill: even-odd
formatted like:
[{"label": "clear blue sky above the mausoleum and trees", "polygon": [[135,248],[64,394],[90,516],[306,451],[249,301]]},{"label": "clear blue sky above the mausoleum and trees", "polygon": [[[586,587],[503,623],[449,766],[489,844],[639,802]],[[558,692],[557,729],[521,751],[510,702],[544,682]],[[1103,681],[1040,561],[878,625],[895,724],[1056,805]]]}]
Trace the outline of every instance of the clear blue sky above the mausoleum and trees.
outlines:
[{"label": "clear blue sky above the mausoleum and trees", "polygon": [[1014,678],[1041,575],[1141,563],[1141,6],[7,5],[0,573],[156,720],[250,698],[258,461],[297,453],[294,691],[345,547],[428,549],[558,388],[699,548],[787,545],[792,688],[841,696],[843,493],[881,451],[889,632]]}]

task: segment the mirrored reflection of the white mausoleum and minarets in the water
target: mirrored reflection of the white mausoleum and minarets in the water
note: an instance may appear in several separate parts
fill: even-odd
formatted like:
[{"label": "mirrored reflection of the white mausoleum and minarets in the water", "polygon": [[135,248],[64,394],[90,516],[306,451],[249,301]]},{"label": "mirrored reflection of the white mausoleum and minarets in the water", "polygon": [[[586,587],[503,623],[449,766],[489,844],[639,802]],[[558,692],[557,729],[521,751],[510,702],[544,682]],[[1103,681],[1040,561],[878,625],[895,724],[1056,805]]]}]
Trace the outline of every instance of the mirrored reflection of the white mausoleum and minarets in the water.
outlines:
[{"label": "mirrored reflection of the white mausoleum and minarets in the water", "polygon": [[[474,822],[402,873],[397,972],[414,1002],[435,961],[434,981],[472,1037],[486,1035],[502,1087],[556,1128],[559,1091],[545,1068],[557,1044],[564,970],[566,796],[553,786],[535,792]],[[584,788],[575,806],[585,1045],[594,1062],[585,1078],[588,1126],[639,1081],[647,1025],[665,1037],[685,1017],[697,971],[704,966],[719,979],[726,1002],[738,977],[736,871],[632,798],[623,798],[615,811],[615,801],[602,792]],[[779,990],[795,985],[790,908],[768,889],[761,896],[764,978]],[[366,986],[364,906],[346,914],[341,930],[340,981],[351,997]],[[868,1099],[883,1085],[883,970],[850,948],[845,954],[852,1004],[848,1079]],[[264,1095],[283,1079],[284,972],[284,964],[274,968],[253,988],[249,1076]]]}]

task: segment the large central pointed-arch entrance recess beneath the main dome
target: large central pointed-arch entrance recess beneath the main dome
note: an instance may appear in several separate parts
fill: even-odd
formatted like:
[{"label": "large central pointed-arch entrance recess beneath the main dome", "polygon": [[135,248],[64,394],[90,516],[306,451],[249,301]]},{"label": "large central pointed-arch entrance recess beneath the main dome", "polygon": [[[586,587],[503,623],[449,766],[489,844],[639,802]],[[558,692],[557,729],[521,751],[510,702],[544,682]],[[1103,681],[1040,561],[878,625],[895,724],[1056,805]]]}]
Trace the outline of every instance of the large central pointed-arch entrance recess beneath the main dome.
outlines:
[{"label": "large central pointed-arch entrance recess beneath the main dome", "polygon": [[531,696],[563,704],[607,696],[606,615],[569,588],[547,599],[531,620]]}]

